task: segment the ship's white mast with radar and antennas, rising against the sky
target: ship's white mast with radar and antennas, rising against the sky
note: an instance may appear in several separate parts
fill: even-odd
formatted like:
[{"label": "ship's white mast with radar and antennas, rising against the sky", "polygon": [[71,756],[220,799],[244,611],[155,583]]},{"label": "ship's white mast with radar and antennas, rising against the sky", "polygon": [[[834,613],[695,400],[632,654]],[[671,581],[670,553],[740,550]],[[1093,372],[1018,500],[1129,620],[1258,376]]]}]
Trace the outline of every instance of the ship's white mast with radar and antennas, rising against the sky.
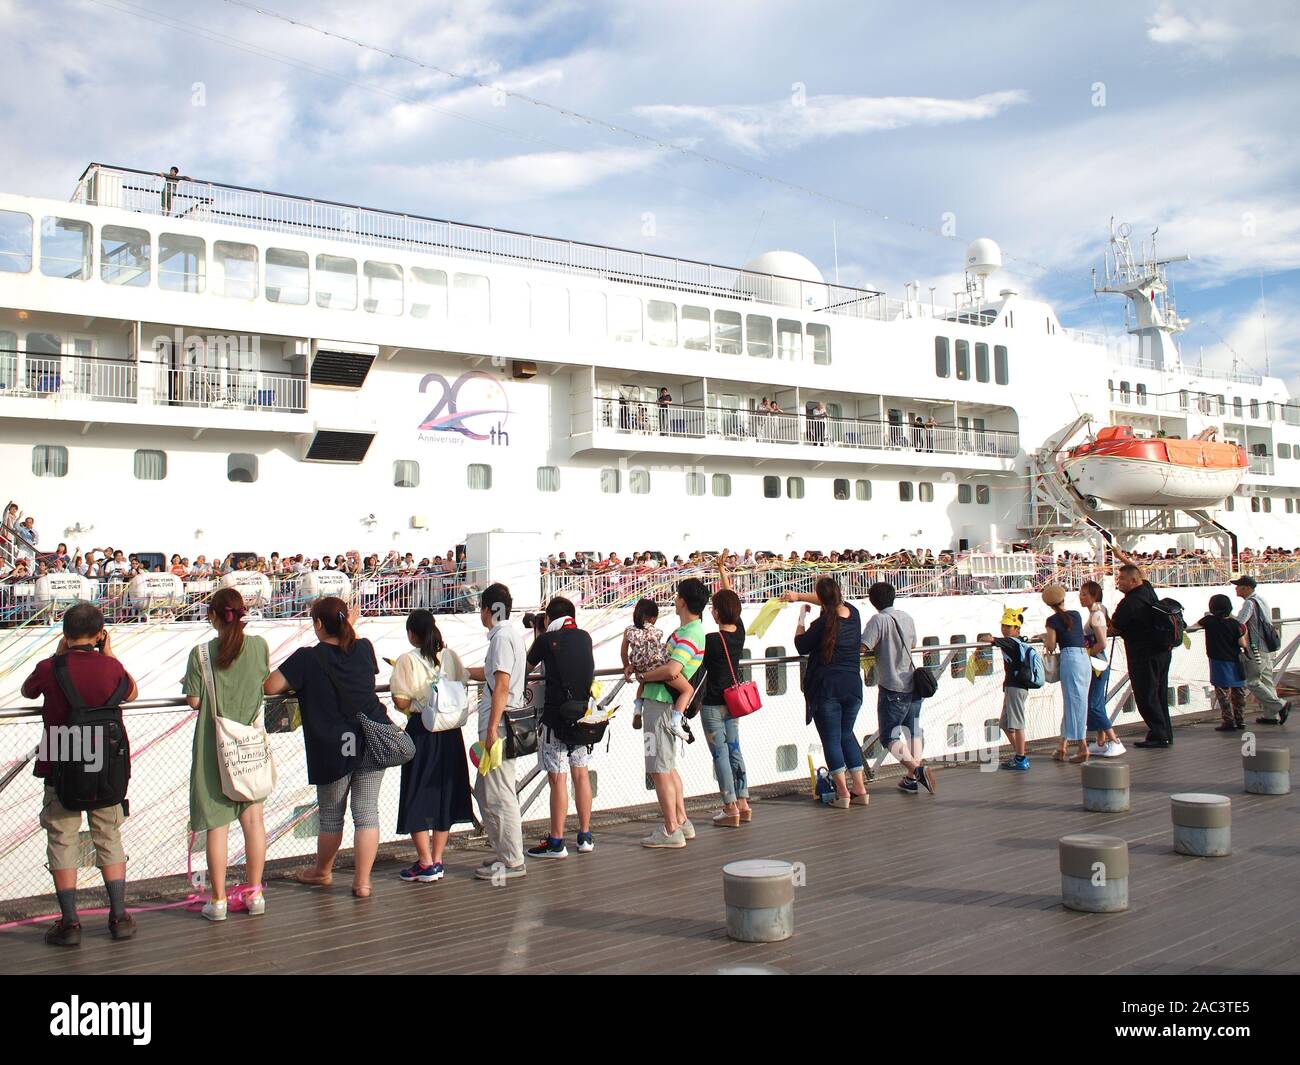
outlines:
[{"label": "ship's white mast with radar and antennas, rising against the sky", "polygon": [[1176,369],[1179,367],[1178,347],[1174,335],[1187,328],[1187,319],[1178,316],[1174,296],[1169,291],[1170,263],[1186,263],[1188,256],[1174,255],[1165,259],[1156,256],[1157,228],[1150,234],[1150,244],[1139,243],[1135,252],[1128,222],[1115,225],[1110,220],[1110,248],[1106,252],[1105,283],[1098,285],[1093,272],[1095,293],[1118,293],[1131,303],[1124,308],[1124,321],[1128,332],[1139,338],[1139,358],[1147,365],[1157,369]]}]

